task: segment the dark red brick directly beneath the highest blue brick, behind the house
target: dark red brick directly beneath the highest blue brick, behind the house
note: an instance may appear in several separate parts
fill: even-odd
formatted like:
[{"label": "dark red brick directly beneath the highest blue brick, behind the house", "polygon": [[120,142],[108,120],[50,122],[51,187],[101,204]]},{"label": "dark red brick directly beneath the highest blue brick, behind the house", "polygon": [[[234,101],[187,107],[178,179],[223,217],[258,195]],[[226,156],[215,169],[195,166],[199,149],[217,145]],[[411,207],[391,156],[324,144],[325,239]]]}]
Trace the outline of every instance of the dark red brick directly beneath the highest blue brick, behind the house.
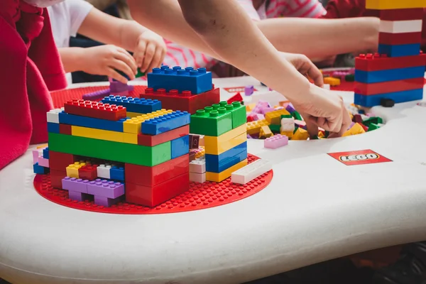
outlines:
[{"label": "dark red brick directly beneath the highest blue brick, behind the house", "polygon": [[187,111],[190,114],[195,114],[197,109],[204,109],[204,107],[219,104],[220,102],[219,88],[214,89],[214,85],[213,89],[209,92],[200,94],[191,94],[190,91],[179,94],[177,90],[173,89],[168,93],[165,92],[165,89],[158,89],[154,92],[153,88],[146,88],[139,97],[144,99],[158,99],[163,109]]}]

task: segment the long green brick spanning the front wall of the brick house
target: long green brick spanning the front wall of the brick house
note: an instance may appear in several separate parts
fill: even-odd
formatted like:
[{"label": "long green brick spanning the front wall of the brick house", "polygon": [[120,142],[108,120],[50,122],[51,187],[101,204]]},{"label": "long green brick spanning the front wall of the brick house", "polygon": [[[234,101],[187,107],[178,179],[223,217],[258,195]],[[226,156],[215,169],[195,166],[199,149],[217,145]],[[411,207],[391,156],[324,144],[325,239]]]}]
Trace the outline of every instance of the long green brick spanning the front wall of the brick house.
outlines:
[{"label": "long green brick spanning the front wall of the brick house", "polygon": [[149,147],[58,133],[49,133],[49,150],[149,167],[172,158],[170,141]]}]

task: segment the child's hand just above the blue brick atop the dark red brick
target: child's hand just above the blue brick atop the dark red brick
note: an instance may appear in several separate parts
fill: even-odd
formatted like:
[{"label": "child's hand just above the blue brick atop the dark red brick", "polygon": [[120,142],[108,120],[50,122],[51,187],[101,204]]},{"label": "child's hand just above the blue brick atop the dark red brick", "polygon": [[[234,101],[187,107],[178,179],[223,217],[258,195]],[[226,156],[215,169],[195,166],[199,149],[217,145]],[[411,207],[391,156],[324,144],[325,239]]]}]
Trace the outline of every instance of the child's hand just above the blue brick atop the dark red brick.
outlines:
[{"label": "child's hand just above the blue brick atop the dark red brick", "polygon": [[160,35],[152,31],[144,31],[138,38],[133,57],[141,72],[151,72],[153,68],[160,67],[166,50]]}]

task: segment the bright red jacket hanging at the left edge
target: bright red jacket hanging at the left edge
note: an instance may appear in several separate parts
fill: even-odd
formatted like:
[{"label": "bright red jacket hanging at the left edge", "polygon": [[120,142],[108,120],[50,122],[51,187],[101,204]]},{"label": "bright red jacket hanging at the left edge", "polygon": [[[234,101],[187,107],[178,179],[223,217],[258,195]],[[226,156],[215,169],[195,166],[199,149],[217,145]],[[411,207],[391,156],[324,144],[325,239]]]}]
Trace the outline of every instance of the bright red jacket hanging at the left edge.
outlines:
[{"label": "bright red jacket hanging at the left edge", "polygon": [[0,169],[48,140],[49,90],[66,87],[46,9],[1,0]]}]

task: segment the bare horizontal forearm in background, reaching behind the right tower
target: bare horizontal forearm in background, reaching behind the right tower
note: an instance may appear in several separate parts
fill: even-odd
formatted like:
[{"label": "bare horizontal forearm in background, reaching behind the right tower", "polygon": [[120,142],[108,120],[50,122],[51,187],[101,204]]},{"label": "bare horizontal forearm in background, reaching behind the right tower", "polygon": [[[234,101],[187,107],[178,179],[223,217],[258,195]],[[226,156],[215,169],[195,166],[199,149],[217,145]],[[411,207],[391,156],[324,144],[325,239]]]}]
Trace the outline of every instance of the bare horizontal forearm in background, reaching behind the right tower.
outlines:
[{"label": "bare horizontal forearm in background, reaching behind the right tower", "polygon": [[280,51],[302,53],[309,58],[375,49],[378,18],[270,18],[256,22]]}]

